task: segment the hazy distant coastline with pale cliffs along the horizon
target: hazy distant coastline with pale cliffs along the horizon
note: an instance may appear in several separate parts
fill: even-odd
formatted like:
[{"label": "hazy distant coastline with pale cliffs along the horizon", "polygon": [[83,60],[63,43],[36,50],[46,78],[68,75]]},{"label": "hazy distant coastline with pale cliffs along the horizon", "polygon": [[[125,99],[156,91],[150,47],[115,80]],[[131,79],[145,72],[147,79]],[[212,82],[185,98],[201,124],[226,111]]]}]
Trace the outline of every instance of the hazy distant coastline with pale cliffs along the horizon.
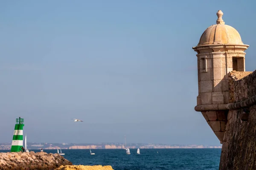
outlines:
[{"label": "hazy distant coastline with pale cliffs along the horizon", "polygon": [[[73,144],[73,143],[28,143],[29,150],[37,149],[125,149],[123,143],[100,143],[100,144]],[[197,145],[197,144],[127,144],[130,149],[201,149],[201,148],[221,148],[215,145]],[[0,150],[10,150],[11,143],[0,143]]]}]

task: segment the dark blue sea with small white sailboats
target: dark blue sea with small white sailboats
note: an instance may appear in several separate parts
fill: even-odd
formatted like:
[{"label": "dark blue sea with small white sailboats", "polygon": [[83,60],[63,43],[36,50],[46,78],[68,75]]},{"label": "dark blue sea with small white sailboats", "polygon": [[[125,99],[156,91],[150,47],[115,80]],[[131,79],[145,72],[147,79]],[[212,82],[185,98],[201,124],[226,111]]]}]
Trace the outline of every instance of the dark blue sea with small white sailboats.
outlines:
[{"label": "dark blue sea with small white sailboats", "polygon": [[[38,152],[39,150],[33,150]],[[57,150],[44,150],[57,153]],[[0,150],[8,152],[8,150]],[[62,150],[75,165],[111,165],[114,170],[218,170],[221,149],[122,149]]]}]

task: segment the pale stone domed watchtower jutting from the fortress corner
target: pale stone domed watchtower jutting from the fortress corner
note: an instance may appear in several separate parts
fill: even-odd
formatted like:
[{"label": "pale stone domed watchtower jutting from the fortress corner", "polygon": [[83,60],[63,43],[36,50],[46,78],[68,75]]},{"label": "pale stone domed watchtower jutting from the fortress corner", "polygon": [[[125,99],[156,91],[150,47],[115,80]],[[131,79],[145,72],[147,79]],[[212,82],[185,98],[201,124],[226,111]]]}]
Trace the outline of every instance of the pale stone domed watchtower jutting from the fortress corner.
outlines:
[{"label": "pale stone domed watchtower jutting from the fortress corner", "polygon": [[228,73],[245,71],[244,45],[235,28],[225,25],[223,12],[217,12],[217,22],[202,34],[193,49],[198,53],[198,96],[195,111],[201,111],[220,142],[223,142],[230,89]]}]

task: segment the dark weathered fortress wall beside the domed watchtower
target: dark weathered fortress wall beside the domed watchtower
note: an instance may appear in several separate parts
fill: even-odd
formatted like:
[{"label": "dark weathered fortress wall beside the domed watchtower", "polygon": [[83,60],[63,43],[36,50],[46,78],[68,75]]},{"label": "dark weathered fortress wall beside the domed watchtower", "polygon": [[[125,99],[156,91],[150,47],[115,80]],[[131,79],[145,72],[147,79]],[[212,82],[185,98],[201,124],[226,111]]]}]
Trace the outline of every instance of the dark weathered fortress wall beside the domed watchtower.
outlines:
[{"label": "dark weathered fortress wall beside the domed watchtower", "polygon": [[[241,102],[256,95],[256,71],[244,73],[231,72],[230,80],[233,81],[229,81],[230,93],[232,94],[230,96],[234,102]],[[241,76],[241,74],[246,77]],[[256,169],[255,104],[228,112],[219,169]]]}]

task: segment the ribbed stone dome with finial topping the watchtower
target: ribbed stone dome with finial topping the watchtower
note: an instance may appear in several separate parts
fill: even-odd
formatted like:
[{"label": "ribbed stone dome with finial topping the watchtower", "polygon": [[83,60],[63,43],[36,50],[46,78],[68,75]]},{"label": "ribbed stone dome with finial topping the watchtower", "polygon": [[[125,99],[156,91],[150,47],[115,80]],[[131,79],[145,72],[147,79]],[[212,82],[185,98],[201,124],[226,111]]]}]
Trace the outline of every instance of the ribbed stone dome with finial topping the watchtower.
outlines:
[{"label": "ribbed stone dome with finial topping the watchtower", "polygon": [[238,31],[232,26],[225,25],[222,20],[223,12],[217,12],[217,24],[209,26],[202,34],[198,45],[210,44],[244,44]]}]

